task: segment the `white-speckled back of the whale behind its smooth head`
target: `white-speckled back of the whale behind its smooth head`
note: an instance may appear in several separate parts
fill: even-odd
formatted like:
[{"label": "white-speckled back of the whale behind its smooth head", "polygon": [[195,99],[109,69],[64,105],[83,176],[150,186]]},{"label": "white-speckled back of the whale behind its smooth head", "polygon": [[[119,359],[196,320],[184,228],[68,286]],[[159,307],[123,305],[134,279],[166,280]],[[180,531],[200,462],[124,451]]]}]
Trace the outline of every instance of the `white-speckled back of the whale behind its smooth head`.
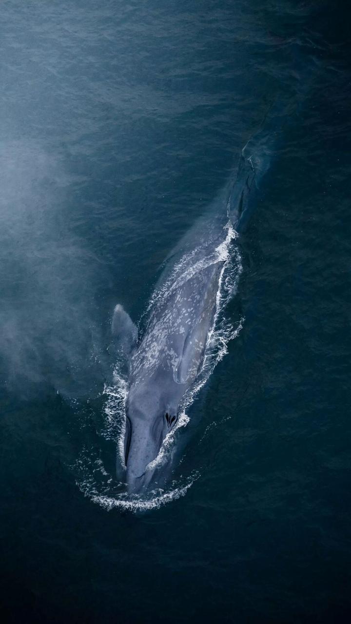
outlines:
[{"label": "white-speckled back of the whale behind its smooth head", "polygon": [[[149,321],[131,358],[131,386],[152,383],[162,392],[182,394],[204,360],[214,322],[216,296],[226,255],[228,230],[201,241],[164,273],[151,298]],[[157,392],[159,392],[158,390]],[[171,399],[170,399],[171,400]]]}]

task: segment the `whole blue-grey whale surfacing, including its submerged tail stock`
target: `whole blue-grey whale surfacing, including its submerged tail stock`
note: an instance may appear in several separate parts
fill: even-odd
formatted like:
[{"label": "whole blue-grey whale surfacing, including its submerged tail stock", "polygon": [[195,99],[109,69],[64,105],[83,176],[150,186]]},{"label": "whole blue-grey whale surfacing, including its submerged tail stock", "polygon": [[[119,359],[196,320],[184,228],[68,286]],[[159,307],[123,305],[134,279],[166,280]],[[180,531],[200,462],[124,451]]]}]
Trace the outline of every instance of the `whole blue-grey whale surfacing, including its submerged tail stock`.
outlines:
[{"label": "whole blue-grey whale surfacing, including its submerged tail stock", "polygon": [[204,364],[230,241],[244,222],[255,186],[257,172],[246,151],[215,210],[200,218],[167,258],[141,335],[123,306],[114,308],[112,333],[128,363],[123,447],[129,494],[161,484],[156,458]]}]

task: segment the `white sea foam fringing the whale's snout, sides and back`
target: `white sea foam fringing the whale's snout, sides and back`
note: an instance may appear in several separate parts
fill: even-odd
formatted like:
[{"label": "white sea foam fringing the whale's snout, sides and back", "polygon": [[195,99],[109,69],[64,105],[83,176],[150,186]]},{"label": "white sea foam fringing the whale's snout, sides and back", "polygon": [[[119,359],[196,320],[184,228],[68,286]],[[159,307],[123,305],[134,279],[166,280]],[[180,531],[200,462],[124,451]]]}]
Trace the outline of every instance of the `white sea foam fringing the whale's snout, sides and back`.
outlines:
[{"label": "white sea foam fringing the whale's snout, sides and back", "polygon": [[[244,323],[244,318],[233,324],[224,316],[227,304],[237,291],[237,284],[242,273],[240,253],[237,245],[235,245],[238,234],[230,223],[227,224],[226,228],[227,235],[225,239],[215,248],[213,253],[197,261],[195,258],[199,256],[197,253],[199,250],[195,248],[188,255],[183,256],[174,266],[166,282],[161,288],[154,291],[147,306],[147,310],[150,310],[152,306],[157,305],[158,301],[162,301],[165,296],[169,296],[172,290],[179,288],[182,283],[189,280],[197,271],[201,271],[218,261],[224,262],[219,276],[214,322],[207,336],[202,368],[195,383],[185,393],[184,399],[179,406],[179,419],[176,426],[167,434],[159,454],[147,466],[148,470],[154,470],[169,461],[174,451],[175,439],[179,434],[179,430],[182,427],[186,427],[189,423],[190,419],[187,415],[187,410],[204,387],[215,366],[227,354],[229,341],[238,336]],[[120,462],[122,469],[124,469],[124,434],[126,431],[128,381],[126,376],[122,374],[121,366],[118,363],[114,369],[113,384],[105,386],[104,394],[107,399],[104,406],[105,426],[102,434],[107,440],[116,442],[117,461]],[[200,476],[199,473],[193,473],[185,477],[185,479],[182,477],[182,482],[173,481],[167,490],[157,489],[144,495],[131,497],[127,495],[122,484],[118,484],[117,487],[112,486],[112,481],[114,480],[116,483],[116,479],[108,475],[101,464],[101,460],[94,460],[92,456],[89,457],[86,449],[79,461],[81,477],[77,480],[77,485],[84,492],[84,495],[91,497],[92,502],[101,505],[106,510],[116,508],[131,511],[158,509],[162,505],[184,496],[194,481]],[[89,470],[89,466],[94,468]],[[97,475],[99,478],[97,478]]]}]

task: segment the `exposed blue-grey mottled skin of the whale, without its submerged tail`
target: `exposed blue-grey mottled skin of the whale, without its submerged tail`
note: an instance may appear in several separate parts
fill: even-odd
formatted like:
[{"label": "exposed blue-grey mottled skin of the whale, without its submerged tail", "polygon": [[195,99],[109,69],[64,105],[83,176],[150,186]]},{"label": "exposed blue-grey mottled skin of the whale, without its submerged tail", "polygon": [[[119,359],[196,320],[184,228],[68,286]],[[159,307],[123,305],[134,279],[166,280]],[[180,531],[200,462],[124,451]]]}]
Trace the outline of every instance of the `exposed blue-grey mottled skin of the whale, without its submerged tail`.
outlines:
[{"label": "exposed blue-grey mottled skin of the whale, without its submerged tail", "polygon": [[[219,280],[226,261],[220,248],[228,228],[182,258],[157,292],[141,341],[131,349],[126,401],[124,459],[129,492],[137,493],[152,479],[147,469],[177,423],[179,404],[202,367],[207,338],[216,311]],[[179,266],[180,265],[180,266]],[[136,329],[121,306],[113,324]]]}]

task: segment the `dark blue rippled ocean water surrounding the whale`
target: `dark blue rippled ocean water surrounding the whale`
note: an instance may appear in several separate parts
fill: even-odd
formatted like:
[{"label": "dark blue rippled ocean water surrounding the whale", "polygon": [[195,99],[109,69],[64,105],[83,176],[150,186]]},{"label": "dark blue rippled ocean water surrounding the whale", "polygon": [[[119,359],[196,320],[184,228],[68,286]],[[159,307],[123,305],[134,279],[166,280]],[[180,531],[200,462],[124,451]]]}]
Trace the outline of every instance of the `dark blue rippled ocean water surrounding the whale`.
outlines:
[{"label": "dark blue rippled ocean water surrounding the whale", "polygon": [[[2,2],[3,622],[349,622],[349,18],[327,0]],[[142,318],[262,127],[232,334],[173,483],[122,504],[112,311]]]}]

